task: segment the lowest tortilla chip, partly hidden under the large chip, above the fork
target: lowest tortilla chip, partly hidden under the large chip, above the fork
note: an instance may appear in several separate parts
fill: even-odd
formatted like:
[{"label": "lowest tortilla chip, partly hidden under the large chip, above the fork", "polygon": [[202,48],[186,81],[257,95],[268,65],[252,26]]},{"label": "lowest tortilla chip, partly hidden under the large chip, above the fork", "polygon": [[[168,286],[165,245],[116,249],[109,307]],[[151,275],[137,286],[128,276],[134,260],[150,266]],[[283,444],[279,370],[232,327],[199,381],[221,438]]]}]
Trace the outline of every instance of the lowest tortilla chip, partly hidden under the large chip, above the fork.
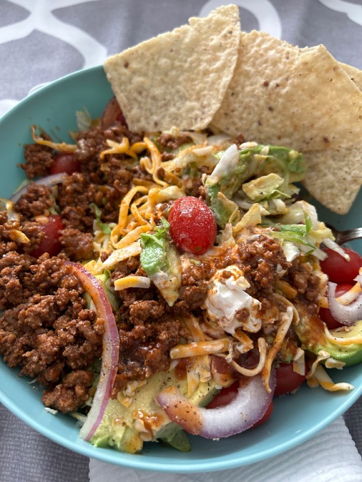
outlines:
[{"label": "lowest tortilla chip, partly hidden under the large chip, above the fork", "polygon": [[304,186],[337,214],[346,214],[362,184],[362,141],[349,147],[304,153]]}]

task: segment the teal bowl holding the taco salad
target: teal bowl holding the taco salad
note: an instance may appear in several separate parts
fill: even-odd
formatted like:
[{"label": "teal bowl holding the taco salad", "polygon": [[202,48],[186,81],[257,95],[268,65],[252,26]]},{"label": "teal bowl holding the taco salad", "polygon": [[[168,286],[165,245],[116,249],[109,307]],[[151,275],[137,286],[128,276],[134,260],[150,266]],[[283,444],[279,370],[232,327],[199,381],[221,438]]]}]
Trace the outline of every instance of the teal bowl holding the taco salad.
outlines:
[{"label": "teal bowl holding the taco salad", "polygon": [[[76,130],[75,112],[87,107],[92,117],[101,115],[113,93],[101,67],[76,72],[30,95],[0,119],[0,196],[9,197],[24,179],[23,144],[31,142],[30,125],[37,124],[54,139],[70,141]],[[332,214],[318,205],[320,218],[337,228],[362,225],[362,193],[346,216]],[[362,252],[362,243],[354,249]],[[346,381],[355,389],[346,393],[302,388],[295,395],[275,401],[271,419],[254,430],[219,441],[190,437],[192,451],[186,454],[157,444],[146,444],[142,454],[94,448],[79,438],[79,428],[69,416],[44,410],[42,390],[19,378],[0,360],[0,401],[28,425],[53,441],[89,457],[136,469],[164,472],[207,472],[257,462],[284,452],[316,434],[347,410],[362,393],[362,365],[331,370],[336,382]],[[16,441],[14,441],[16,443]]]}]

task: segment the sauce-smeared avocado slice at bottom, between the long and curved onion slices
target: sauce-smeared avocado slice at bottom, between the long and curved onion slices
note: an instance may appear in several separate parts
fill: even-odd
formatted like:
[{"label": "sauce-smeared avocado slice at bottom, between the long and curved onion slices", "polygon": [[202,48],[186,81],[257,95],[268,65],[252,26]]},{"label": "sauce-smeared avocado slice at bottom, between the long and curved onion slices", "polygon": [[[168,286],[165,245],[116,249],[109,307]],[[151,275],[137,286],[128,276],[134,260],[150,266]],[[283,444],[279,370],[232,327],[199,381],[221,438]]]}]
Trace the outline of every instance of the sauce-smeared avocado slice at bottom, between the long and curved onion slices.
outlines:
[{"label": "sauce-smeared avocado slice at bottom, between the long and curved onion slices", "polygon": [[[167,371],[151,375],[145,385],[136,389],[128,407],[118,399],[111,399],[91,443],[97,447],[111,446],[122,452],[140,452],[144,440],[150,437],[145,437],[136,429],[140,428],[139,422],[136,424],[139,420],[144,422],[146,428],[151,429],[152,440],[163,439],[174,447],[177,445],[185,447],[182,436],[176,437],[182,430],[181,426],[171,422],[155,400],[162,390],[171,386],[177,386],[181,394],[186,396],[186,377],[180,380],[175,376],[174,371]],[[207,383],[201,382],[189,399],[197,405],[205,406],[217,393],[218,388],[211,379]]]}]

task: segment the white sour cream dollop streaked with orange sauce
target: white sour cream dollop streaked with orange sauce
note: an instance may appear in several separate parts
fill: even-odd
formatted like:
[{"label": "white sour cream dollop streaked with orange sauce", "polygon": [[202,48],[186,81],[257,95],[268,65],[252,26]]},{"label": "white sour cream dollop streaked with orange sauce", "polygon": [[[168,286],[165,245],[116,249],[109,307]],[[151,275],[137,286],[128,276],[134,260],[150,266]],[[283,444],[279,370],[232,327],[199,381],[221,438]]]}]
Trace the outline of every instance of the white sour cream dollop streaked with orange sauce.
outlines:
[{"label": "white sour cream dollop streaked with orange sauce", "polygon": [[[226,278],[224,273],[227,272]],[[204,307],[211,321],[233,335],[237,328],[242,328],[249,333],[257,333],[261,329],[259,309],[261,303],[248,295],[245,290],[250,284],[243,276],[241,269],[236,265],[227,266],[216,271],[211,280]],[[237,313],[246,308],[249,315],[244,321],[237,319]]]}]

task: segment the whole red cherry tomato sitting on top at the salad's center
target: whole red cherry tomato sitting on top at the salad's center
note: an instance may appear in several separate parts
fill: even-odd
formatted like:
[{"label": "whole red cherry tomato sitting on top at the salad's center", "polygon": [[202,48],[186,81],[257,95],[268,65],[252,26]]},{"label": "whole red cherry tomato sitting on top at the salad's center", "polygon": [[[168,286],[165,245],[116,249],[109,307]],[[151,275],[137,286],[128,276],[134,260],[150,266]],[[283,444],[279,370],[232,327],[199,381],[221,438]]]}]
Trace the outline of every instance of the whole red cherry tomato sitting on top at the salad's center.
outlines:
[{"label": "whole red cherry tomato sitting on top at the salad's center", "polygon": [[177,199],[168,216],[175,244],[194,255],[202,255],[216,238],[216,221],[209,206],[192,196]]}]

